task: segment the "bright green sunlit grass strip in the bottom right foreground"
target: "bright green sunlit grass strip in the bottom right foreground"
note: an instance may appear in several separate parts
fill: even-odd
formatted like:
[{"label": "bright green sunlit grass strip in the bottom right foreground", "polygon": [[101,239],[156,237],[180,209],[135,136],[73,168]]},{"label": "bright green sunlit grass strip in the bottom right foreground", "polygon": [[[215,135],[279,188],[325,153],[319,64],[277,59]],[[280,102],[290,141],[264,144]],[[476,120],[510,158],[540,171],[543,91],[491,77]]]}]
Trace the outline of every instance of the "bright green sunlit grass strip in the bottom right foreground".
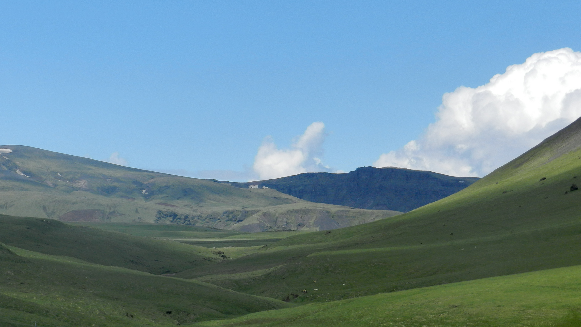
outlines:
[{"label": "bright green sunlit grass strip in the bottom right foreground", "polygon": [[306,304],[194,326],[578,327],[581,266]]}]

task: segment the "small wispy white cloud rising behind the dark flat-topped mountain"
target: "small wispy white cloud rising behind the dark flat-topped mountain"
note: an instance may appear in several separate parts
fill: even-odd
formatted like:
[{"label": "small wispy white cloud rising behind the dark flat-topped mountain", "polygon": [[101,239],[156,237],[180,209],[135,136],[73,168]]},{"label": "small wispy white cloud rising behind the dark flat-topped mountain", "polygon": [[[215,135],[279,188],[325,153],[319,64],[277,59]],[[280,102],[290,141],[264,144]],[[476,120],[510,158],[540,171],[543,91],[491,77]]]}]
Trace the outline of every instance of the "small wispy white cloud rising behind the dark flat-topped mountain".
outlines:
[{"label": "small wispy white cloud rising behind the dark flat-topped mountain", "polygon": [[259,179],[272,179],[306,172],[327,172],[321,158],[325,124],[314,122],[297,137],[289,149],[278,149],[272,137],[264,138],[254,157],[254,172]]}]

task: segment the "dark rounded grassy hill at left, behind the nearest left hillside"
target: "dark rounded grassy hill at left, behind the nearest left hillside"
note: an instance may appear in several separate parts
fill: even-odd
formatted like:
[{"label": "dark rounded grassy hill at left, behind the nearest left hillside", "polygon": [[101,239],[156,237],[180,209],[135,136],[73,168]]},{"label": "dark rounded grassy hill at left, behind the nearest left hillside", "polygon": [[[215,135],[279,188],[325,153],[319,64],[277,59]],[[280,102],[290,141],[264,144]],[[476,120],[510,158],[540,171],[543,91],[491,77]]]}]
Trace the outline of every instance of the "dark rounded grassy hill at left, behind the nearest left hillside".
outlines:
[{"label": "dark rounded grassy hill at left, behind the nearest left hillside", "polygon": [[0,241],[49,255],[149,273],[173,273],[223,258],[204,247],[71,226],[51,219],[0,216]]}]

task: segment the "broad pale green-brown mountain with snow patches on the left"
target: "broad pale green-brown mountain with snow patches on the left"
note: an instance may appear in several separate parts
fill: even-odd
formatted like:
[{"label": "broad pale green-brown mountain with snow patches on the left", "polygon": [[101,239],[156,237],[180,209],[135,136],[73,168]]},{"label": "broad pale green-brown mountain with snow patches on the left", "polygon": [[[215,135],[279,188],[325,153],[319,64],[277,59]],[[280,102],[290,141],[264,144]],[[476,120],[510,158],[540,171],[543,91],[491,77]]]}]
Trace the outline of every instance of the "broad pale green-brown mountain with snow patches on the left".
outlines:
[{"label": "broad pale green-brown mountain with snow patches on the left", "polygon": [[23,145],[0,145],[0,214],[260,232],[334,229],[399,212],[318,204],[273,189],[240,189]]}]

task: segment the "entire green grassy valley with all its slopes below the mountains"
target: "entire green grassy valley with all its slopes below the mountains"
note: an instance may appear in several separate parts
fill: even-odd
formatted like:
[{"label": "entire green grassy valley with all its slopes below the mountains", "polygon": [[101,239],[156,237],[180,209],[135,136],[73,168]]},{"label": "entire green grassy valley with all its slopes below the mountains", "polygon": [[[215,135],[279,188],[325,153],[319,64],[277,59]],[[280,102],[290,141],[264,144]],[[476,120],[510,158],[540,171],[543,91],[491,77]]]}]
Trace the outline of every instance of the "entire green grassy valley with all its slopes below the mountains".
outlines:
[{"label": "entire green grassy valley with all its slopes below the mountains", "polygon": [[0,216],[6,326],[580,326],[581,121],[371,223],[243,233]]}]

